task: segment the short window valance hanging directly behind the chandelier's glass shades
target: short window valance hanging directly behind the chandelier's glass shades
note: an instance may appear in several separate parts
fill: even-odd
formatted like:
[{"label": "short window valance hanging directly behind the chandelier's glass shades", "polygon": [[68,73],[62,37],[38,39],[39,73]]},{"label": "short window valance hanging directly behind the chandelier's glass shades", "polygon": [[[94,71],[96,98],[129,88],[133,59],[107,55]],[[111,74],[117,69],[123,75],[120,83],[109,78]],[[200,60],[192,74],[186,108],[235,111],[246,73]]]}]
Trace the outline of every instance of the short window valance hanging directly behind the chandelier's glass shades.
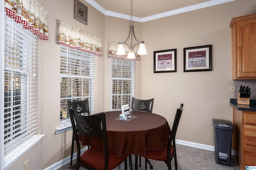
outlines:
[{"label": "short window valance hanging directly behind the chandelier's glass shades", "polygon": [[124,51],[125,51],[126,55],[116,55],[117,47],[118,47],[118,43],[108,42],[108,58],[140,61],[140,55],[137,54],[138,49],[139,49],[138,45],[136,45],[134,47],[134,55],[135,55],[136,59],[127,59],[129,48],[126,45],[124,45]]}]

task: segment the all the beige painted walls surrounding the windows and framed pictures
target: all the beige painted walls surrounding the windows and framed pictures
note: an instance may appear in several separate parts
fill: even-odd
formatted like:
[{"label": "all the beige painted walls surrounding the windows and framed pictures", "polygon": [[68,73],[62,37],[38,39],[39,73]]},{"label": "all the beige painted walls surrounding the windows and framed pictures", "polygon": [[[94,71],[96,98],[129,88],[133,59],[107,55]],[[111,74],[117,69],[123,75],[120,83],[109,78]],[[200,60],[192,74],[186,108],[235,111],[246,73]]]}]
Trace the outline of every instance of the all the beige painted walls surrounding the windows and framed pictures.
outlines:
[{"label": "all the beige painted walls surrounding the windows and framed pictures", "polygon": [[[59,127],[60,106],[60,46],[57,44],[56,20],[102,39],[104,57],[98,57],[98,112],[110,110],[110,59],[108,41],[124,41],[129,20],[104,16],[88,3],[88,25],[73,19],[73,0],[41,0],[48,12],[48,41],[40,41],[40,103],[39,131],[45,134],[8,170],[22,170],[30,160],[30,169],[44,169],[70,156],[72,131],[55,135]],[[176,139],[204,145],[214,145],[212,118],[232,120],[229,86],[231,80],[231,29],[233,17],[256,13],[255,0],[236,0],[217,6],[174,16],[134,22],[137,39],[146,43],[148,55],[136,62],[136,97],[154,98],[153,112],[166,117],[172,124],[174,112],[184,103]],[[183,48],[212,44],[213,70],[183,72]],[[153,52],[177,49],[177,72],[153,73]],[[33,162],[33,163],[32,163]]]}]

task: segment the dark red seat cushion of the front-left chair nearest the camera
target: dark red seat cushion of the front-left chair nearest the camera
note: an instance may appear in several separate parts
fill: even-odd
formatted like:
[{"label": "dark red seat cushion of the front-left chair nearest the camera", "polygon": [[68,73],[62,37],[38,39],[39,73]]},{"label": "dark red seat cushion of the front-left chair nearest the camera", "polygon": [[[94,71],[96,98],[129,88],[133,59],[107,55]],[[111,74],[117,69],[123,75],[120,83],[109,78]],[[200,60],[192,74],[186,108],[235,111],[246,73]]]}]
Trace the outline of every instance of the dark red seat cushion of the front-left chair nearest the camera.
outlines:
[{"label": "dark red seat cushion of the front-left chair nearest the camera", "polygon": [[[108,169],[112,170],[121,164],[129,154],[125,154],[122,157],[116,157],[114,154],[110,153],[108,155]],[[100,151],[91,152],[90,149],[86,150],[81,156],[80,161],[92,168],[104,170],[105,166],[105,156],[101,154]]]}]

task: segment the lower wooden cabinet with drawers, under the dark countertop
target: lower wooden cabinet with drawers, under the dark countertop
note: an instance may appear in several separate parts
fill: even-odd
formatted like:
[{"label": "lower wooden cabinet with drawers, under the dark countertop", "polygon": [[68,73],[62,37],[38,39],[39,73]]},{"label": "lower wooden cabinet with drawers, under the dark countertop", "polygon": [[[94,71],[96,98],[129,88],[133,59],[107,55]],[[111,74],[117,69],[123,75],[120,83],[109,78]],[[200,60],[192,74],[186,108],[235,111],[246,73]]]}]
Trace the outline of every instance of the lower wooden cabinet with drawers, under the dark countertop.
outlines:
[{"label": "lower wooden cabinet with drawers, under the dark countertop", "polygon": [[256,112],[233,108],[233,150],[240,170],[256,165]]}]

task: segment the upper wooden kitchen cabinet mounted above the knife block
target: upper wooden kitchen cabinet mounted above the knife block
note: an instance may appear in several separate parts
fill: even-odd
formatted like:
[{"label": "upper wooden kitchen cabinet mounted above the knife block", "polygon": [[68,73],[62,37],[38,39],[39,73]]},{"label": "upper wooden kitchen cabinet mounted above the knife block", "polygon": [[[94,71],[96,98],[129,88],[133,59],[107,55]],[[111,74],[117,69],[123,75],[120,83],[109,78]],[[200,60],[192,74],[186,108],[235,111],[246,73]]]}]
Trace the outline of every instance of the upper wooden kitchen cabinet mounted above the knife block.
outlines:
[{"label": "upper wooden kitchen cabinet mounted above the knife block", "polygon": [[256,14],[232,18],[232,79],[256,79]]}]

